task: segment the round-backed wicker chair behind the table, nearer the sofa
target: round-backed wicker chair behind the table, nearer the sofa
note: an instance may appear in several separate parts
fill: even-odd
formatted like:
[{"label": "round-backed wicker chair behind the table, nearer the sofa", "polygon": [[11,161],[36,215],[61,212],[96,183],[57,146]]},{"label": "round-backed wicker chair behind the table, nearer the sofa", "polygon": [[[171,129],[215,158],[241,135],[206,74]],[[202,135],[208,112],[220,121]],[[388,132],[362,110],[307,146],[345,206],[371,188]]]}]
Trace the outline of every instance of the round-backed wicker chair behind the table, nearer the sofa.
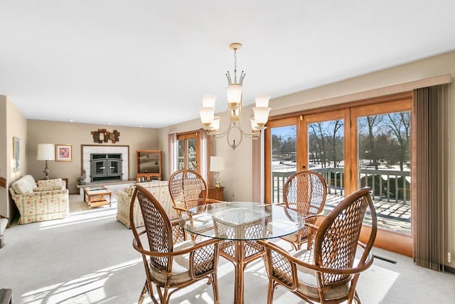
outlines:
[{"label": "round-backed wicker chair behind the table, nearer the sofa", "polygon": [[[219,202],[215,199],[208,199],[208,187],[205,179],[198,172],[182,169],[174,172],[169,178],[169,193],[171,194],[173,208],[178,214],[186,212],[191,215],[193,228],[198,231],[208,231],[213,229],[211,221],[197,221],[197,214],[192,215],[191,209],[196,206],[204,206],[207,203]],[[196,234],[191,234],[191,239],[196,240]]]}]

